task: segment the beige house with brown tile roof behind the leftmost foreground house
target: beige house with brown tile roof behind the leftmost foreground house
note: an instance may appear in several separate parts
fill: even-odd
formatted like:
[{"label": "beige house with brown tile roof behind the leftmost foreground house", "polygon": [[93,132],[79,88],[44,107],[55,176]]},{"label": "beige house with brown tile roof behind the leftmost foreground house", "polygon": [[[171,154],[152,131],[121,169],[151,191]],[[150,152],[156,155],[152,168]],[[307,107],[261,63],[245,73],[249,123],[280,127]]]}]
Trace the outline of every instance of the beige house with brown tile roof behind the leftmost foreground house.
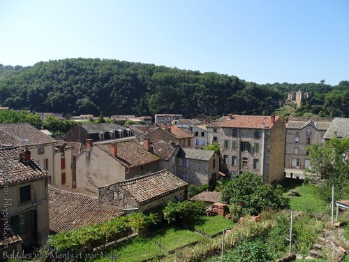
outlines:
[{"label": "beige house with brown tile roof behind the leftmost foreground house", "polygon": [[[1,146],[26,146],[31,158],[45,171],[49,179],[54,175],[54,150],[57,140],[27,123],[0,124]],[[60,166],[60,162],[57,163]]]}]

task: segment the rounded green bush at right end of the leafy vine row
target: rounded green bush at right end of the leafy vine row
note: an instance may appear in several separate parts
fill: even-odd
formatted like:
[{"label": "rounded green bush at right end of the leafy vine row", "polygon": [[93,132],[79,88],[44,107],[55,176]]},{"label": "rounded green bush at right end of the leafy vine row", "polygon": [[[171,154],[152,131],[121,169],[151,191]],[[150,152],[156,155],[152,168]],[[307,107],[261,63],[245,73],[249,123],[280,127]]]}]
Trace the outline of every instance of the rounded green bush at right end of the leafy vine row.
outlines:
[{"label": "rounded green bush at right end of the leafy vine row", "polygon": [[163,209],[163,218],[172,223],[181,221],[184,224],[190,224],[200,219],[205,214],[205,203],[201,201],[183,201],[173,203],[170,201]]}]

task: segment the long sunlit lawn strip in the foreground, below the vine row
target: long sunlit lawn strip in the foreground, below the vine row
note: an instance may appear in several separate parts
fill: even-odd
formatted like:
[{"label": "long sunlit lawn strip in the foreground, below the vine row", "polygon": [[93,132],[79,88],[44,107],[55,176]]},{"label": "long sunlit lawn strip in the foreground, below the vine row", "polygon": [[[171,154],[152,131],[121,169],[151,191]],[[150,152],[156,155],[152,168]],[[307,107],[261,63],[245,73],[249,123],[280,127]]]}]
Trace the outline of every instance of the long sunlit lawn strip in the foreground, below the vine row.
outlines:
[{"label": "long sunlit lawn strip in the foreground, below the vine row", "polygon": [[[167,254],[169,251],[184,247],[196,242],[202,238],[201,235],[195,232],[181,228],[168,228],[165,231],[158,231],[149,237],[138,237],[130,240],[119,247],[111,249],[104,254],[116,254],[117,261],[121,262],[138,262],[158,254]],[[110,261],[110,259],[98,259],[93,261]]]}]

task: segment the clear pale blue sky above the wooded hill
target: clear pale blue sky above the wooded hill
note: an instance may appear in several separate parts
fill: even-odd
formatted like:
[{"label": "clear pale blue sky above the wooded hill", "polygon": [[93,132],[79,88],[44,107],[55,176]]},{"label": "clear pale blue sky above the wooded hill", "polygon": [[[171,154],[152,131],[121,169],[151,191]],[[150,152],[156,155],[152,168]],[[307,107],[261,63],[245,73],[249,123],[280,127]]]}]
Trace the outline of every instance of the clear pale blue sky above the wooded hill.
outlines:
[{"label": "clear pale blue sky above the wooded hill", "polygon": [[348,0],[0,0],[0,64],[101,58],[258,84],[349,80]]}]

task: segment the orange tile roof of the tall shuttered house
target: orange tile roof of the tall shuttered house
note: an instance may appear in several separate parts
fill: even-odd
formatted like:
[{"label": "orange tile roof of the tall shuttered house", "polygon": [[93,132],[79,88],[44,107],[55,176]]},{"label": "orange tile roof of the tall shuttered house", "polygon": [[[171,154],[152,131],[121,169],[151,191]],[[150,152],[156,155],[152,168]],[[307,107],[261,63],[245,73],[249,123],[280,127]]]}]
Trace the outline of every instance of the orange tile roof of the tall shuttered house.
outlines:
[{"label": "orange tile roof of the tall shuttered house", "polygon": [[[277,121],[279,117],[275,117]],[[265,123],[265,128],[270,129],[274,125],[272,123],[272,117],[264,115],[232,115],[230,119],[227,117],[224,122],[219,126],[232,127],[240,129],[262,129],[262,125]]]}]

